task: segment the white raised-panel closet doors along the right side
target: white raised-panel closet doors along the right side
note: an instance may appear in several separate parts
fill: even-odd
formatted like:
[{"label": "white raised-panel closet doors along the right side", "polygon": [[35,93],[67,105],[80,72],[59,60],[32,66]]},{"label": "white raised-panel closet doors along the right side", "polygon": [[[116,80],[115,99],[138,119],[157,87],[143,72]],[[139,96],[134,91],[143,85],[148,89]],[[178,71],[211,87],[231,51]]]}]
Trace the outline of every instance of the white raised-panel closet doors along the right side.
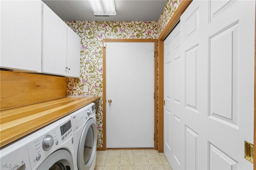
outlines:
[{"label": "white raised-panel closet doors along the right side", "polygon": [[179,24],[180,72],[176,75],[175,64],[165,68],[171,75],[170,86],[164,85],[171,95],[170,109],[164,106],[166,117],[170,112],[169,123],[164,117],[170,165],[174,170],[253,169],[244,158],[244,141],[253,143],[254,136],[255,1],[193,1]]}]

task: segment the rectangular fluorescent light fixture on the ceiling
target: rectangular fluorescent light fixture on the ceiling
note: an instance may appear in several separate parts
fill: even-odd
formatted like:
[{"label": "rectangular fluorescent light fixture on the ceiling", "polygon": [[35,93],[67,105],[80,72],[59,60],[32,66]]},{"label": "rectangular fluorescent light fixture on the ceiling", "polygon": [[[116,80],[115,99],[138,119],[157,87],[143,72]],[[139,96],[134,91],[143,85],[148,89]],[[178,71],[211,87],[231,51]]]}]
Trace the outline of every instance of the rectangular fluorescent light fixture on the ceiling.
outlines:
[{"label": "rectangular fluorescent light fixture on the ceiling", "polygon": [[94,15],[116,15],[114,0],[88,0]]}]

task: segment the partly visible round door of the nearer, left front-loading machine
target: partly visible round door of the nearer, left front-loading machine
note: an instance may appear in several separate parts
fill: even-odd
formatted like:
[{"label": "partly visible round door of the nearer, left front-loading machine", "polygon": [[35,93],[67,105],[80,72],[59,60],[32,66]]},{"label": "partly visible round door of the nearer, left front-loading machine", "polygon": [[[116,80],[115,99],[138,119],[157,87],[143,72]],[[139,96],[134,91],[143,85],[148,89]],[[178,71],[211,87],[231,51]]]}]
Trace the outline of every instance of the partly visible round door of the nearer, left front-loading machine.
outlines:
[{"label": "partly visible round door of the nearer, left front-loading machine", "polygon": [[73,158],[65,149],[60,149],[48,156],[37,170],[72,170]]}]

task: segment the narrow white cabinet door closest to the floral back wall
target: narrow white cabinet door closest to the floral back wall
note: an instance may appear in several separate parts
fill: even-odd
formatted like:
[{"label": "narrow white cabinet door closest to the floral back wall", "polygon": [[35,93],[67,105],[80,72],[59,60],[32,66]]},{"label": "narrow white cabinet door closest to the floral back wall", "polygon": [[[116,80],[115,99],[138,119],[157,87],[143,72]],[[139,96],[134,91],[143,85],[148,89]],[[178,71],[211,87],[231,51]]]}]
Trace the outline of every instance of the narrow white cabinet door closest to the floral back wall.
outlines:
[{"label": "narrow white cabinet door closest to the floral back wall", "polygon": [[81,38],[70,27],[67,34],[67,76],[80,77]]}]

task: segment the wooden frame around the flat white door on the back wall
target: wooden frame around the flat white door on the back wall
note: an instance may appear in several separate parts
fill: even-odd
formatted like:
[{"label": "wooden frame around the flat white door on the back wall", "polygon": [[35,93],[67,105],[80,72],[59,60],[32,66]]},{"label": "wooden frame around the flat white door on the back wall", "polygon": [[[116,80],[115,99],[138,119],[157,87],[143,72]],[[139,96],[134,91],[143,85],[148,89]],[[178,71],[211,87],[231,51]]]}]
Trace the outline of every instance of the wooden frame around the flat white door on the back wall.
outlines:
[{"label": "wooden frame around the flat white door on the back wall", "polygon": [[[157,143],[157,68],[158,68],[158,53],[157,53],[157,39],[103,39],[103,147],[106,150],[106,42],[133,42],[133,43],[154,43],[154,149],[158,149]],[[98,149],[101,150],[101,149]]]}]

